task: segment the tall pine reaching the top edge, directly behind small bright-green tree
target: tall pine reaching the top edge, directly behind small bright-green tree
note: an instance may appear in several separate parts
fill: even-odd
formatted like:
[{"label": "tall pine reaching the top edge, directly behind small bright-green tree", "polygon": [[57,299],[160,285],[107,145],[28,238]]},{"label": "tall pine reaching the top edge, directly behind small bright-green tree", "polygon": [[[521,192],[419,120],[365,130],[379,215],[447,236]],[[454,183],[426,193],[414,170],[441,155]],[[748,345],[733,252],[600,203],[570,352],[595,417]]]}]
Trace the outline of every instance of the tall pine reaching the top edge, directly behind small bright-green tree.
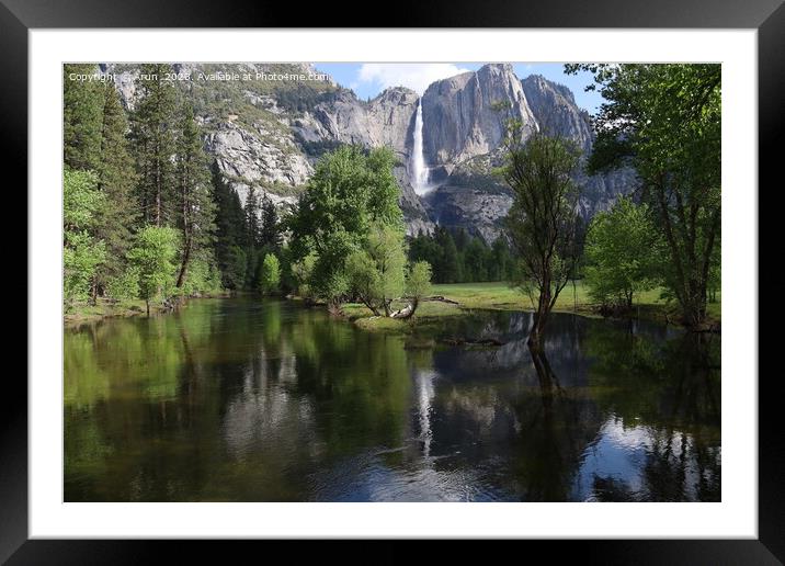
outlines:
[{"label": "tall pine reaching the top edge, directly behind small bright-green tree", "polygon": [[174,86],[164,80],[171,70],[169,65],[141,66],[138,79],[141,95],[132,121],[143,214],[146,223],[156,226],[169,219],[177,185],[172,163],[177,92]]}]

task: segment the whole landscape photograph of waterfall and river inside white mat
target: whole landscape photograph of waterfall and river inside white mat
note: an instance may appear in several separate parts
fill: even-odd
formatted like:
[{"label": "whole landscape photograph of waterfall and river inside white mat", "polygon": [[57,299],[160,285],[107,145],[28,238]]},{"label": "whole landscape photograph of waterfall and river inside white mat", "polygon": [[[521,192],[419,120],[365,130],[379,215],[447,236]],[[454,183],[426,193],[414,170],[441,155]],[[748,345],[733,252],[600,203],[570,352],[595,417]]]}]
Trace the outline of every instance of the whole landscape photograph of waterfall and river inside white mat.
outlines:
[{"label": "whole landscape photograph of waterfall and river inside white mat", "polygon": [[66,502],[721,501],[720,64],[61,68]]}]

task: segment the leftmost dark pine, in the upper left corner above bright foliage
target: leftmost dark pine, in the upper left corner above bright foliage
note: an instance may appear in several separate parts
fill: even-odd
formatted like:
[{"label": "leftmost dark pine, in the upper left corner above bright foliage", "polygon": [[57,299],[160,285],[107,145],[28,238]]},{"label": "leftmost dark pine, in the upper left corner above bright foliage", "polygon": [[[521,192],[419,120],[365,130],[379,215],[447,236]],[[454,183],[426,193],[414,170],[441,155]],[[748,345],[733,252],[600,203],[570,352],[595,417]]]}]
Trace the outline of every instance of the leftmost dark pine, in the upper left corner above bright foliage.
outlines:
[{"label": "leftmost dark pine, in the upper left corner above bright foliage", "polygon": [[62,158],[71,169],[95,170],[99,163],[104,84],[76,79],[96,71],[95,65],[62,66]]}]

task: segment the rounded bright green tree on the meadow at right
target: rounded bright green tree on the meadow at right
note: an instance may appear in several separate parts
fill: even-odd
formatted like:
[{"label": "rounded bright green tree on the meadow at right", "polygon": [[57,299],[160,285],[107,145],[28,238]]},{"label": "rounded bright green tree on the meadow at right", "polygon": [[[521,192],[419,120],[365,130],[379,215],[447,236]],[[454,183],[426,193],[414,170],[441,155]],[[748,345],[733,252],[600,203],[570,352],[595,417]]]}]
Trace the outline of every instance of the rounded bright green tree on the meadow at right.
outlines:
[{"label": "rounded bright green tree on the meadow at right", "polygon": [[630,309],[634,293],[657,283],[658,234],[648,207],[622,197],[608,212],[598,213],[589,226],[585,258],[592,299]]}]

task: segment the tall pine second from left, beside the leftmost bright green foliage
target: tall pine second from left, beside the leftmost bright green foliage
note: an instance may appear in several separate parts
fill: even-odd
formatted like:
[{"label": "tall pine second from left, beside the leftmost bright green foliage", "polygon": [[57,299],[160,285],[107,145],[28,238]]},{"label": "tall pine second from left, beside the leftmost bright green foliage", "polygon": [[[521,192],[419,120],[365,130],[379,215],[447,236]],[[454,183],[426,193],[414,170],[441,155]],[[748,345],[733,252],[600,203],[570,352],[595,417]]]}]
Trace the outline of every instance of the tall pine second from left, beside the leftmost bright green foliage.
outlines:
[{"label": "tall pine second from left, beside the leftmost bright green foliage", "polygon": [[134,159],[129,152],[128,122],[114,84],[104,87],[101,152],[98,162],[98,189],[105,195],[98,212],[96,237],[106,245],[106,261],[96,273],[93,299],[112,278],[122,274],[124,258],[132,246],[132,228],[138,219],[133,196],[136,183]]}]

